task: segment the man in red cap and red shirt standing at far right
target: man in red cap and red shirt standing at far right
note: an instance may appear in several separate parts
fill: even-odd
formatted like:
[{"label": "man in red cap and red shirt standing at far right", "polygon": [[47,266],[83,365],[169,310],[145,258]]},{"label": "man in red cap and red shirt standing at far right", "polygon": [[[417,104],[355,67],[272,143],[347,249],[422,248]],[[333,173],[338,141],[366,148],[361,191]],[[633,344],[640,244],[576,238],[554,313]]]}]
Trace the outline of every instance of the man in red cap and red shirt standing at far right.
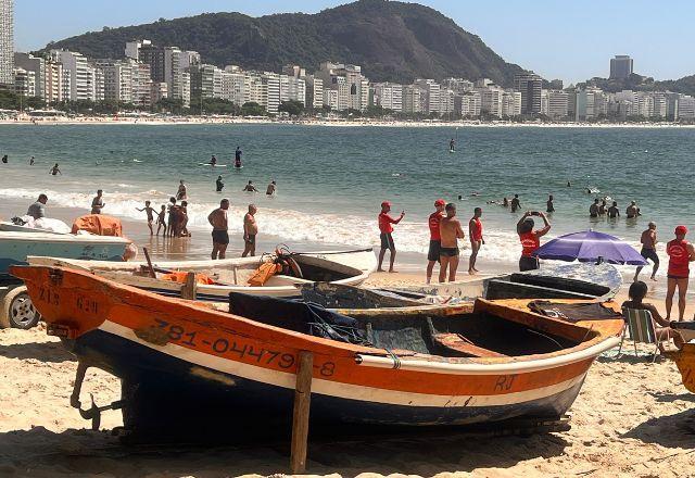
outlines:
[{"label": "man in red cap and red shirt standing at far right", "polygon": [[685,293],[687,292],[687,279],[690,276],[690,263],[695,261],[695,249],[685,240],[687,227],[675,227],[675,239],[666,244],[666,253],[669,255],[668,282],[666,289],[666,319],[671,319],[671,306],[673,294],[678,288],[678,319],[682,320],[685,314]]}]

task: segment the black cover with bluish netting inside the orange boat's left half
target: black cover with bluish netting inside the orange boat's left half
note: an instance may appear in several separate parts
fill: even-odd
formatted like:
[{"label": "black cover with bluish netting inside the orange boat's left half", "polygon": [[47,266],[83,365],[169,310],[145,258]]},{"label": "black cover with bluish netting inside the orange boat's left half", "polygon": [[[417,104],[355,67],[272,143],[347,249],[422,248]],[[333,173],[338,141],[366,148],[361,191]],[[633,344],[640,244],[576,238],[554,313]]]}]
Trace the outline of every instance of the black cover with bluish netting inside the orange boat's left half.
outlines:
[{"label": "black cover with bluish netting inside the orange boat's left half", "polygon": [[229,313],[295,332],[339,342],[368,344],[357,320],[316,304],[230,292]]}]

